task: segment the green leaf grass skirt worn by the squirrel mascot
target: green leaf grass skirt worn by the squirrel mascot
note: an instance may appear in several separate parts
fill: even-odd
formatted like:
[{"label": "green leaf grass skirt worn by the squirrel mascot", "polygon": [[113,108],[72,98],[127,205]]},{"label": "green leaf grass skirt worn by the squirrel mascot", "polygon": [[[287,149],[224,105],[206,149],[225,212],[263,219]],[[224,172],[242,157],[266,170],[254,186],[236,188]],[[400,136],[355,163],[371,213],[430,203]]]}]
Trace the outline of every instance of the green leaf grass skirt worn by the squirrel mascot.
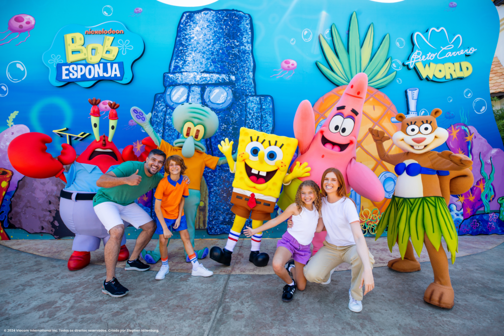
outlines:
[{"label": "green leaf grass skirt worn by the squirrel mascot", "polygon": [[376,228],[378,239],[388,228],[387,239],[390,251],[398,241],[401,258],[404,258],[408,239],[418,256],[422,251],[424,233],[436,250],[441,244],[441,236],[445,237],[448,249],[452,253],[452,263],[455,262],[459,236],[455,229],[450,210],[445,198],[440,196],[404,198],[392,196]]}]

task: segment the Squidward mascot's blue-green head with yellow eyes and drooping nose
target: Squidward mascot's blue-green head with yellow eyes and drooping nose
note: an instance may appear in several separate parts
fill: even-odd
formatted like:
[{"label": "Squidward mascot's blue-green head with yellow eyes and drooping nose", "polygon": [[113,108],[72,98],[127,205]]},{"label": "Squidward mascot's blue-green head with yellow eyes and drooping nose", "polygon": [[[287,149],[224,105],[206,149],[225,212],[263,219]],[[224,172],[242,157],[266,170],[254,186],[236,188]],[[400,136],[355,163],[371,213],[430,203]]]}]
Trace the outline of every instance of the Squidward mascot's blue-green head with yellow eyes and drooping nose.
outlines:
[{"label": "Squidward mascot's blue-green head with yellow eyes and drooping nose", "polygon": [[207,106],[197,103],[178,105],[172,114],[173,126],[182,138],[173,142],[173,146],[182,147],[182,155],[191,158],[194,151],[206,152],[203,139],[210,138],[219,128],[219,118]]}]

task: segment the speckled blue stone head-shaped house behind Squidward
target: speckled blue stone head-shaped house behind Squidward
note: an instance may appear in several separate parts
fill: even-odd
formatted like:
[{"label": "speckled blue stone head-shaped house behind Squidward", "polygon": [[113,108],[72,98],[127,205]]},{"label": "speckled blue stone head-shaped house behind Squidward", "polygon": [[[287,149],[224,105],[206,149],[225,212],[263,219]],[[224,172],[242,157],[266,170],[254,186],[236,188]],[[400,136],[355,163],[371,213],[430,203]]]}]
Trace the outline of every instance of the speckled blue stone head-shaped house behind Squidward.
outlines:
[{"label": "speckled blue stone head-shaped house behind Squidward", "polygon": [[[207,88],[227,87],[233,94],[229,106],[212,108],[219,117],[219,128],[213,137],[206,139],[210,155],[222,157],[217,145],[225,138],[234,141],[236,151],[240,127],[273,131],[273,97],[256,95],[253,42],[252,19],[239,11],[204,9],[185,12],[180,18],[170,69],[163,75],[164,87],[184,85],[189,88],[185,102],[207,106],[204,99]],[[151,123],[168,143],[181,137],[173,127],[172,113],[164,93],[156,94]],[[229,202],[234,176],[227,165],[205,169],[203,176],[209,190],[207,231],[227,234],[234,219]]]}]

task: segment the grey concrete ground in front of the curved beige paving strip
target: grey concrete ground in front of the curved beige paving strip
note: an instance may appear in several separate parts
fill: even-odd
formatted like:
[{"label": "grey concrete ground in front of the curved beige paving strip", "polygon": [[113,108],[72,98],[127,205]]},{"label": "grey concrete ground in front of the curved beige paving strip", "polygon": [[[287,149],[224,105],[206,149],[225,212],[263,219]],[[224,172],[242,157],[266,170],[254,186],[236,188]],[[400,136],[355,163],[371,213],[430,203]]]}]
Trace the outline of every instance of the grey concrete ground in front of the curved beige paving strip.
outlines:
[{"label": "grey concrete ground in front of the curved beige paving strip", "polygon": [[[348,310],[350,271],[337,272],[330,285],[308,284],[290,303],[281,301],[274,275],[214,275],[195,278],[170,273],[118,270],[130,294],[114,299],[100,291],[104,266],[69,272],[65,260],[0,246],[0,334],[14,329],[155,329],[166,335],[497,335],[504,321],[504,245],[458,257],[450,265],[455,307],[423,301],[432,281],[422,271],[399,274],[373,270],[376,288],[360,313]],[[104,335],[115,332],[79,332]],[[119,332],[117,332],[119,333]],[[155,332],[123,334],[155,335]]]}]

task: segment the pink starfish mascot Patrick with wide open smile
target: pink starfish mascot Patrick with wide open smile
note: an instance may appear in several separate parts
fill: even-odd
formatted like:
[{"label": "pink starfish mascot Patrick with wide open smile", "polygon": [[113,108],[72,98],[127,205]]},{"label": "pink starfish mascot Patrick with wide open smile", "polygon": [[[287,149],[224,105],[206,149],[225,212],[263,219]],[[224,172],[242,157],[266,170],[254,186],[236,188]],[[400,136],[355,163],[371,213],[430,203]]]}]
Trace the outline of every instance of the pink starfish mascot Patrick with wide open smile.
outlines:
[{"label": "pink starfish mascot Patrick with wide open smile", "polygon": [[[366,91],[367,75],[355,75],[317,133],[310,102],[303,100],[299,104],[294,116],[294,136],[298,141],[300,155],[295,162],[307,162],[311,171],[309,177],[294,179],[288,186],[284,186],[278,200],[280,209],[285,210],[294,203],[297,187],[302,181],[313,180],[322,187],[322,174],[330,167],[341,171],[348,191],[352,187],[355,192],[373,201],[385,197],[385,190],[378,177],[371,169],[355,160]],[[360,209],[357,211],[360,212]],[[313,254],[322,247],[326,235],[326,231],[315,234],[312,241]]]}]

